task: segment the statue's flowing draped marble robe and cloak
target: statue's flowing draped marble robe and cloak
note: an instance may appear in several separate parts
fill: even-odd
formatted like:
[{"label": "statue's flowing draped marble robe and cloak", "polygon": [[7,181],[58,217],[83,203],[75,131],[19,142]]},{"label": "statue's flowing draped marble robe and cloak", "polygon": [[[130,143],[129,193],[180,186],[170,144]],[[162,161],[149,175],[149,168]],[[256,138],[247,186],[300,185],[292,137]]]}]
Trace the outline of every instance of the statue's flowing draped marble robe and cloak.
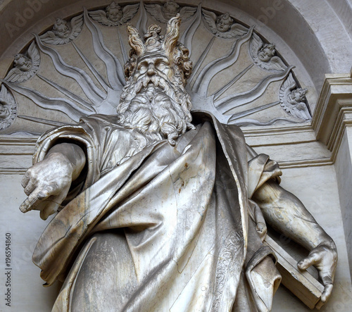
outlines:
[{"label": "statue's flowing draped marble robe and cloak", "polygon": [[238,127],[199,120],[175,146],[163,140],[140,151],[114,116],[39,138],[34,163],[62,142],[87,158],[33,254],[46,285],[65,279],[53,311],[270,309],[265,296],[279,275],[271,260],[269,273],[251,275],[272,254],[256,232],[251,196],[281,171],[246,146]]}]

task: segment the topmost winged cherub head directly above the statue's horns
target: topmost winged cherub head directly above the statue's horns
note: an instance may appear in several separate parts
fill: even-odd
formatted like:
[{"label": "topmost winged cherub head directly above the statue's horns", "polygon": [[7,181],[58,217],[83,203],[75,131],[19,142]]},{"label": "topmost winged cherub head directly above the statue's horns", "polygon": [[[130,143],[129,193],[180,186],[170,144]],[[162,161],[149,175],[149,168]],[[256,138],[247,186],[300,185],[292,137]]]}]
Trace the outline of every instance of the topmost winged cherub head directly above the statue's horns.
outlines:
[{"label": "topmost winged cherub head directly above the statue's horns", "polygon": [[170,18],[180,13],[182,23],[187,22],[197,11],[196,7],[179,6],[175,1],[166,1],[165,4],[144,4],[146,11],[158,22],[166,24]]}]

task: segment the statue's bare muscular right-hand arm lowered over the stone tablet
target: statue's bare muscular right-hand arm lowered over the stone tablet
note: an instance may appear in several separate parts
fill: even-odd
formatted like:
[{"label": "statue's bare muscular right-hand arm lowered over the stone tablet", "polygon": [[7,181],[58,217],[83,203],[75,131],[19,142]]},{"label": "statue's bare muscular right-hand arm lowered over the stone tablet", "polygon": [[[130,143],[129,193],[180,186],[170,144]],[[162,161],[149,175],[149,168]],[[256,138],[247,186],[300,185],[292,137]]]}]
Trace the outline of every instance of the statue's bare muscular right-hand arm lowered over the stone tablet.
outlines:
[{"label": "statue's bare muscular right-hand arm lowered over the stone tablet", "polygon": [[329,235],[320,227],[301,201],[269,180],[253,194],[265,220],[279,232],[306,247],[309,255],[298,262],[298,268],[309,266],[318,269],[325,287],[321,301],[325,303],[332,292],[337,266],[337,248]]}]

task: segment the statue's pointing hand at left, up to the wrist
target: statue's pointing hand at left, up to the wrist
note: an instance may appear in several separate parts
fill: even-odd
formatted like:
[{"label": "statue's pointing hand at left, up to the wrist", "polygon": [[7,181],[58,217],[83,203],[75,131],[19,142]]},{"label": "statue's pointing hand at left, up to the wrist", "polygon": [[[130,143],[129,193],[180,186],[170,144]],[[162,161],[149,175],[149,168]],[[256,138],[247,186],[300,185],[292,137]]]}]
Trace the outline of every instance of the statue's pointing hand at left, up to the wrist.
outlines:
[{"label": "statue's pointing hand at left, up to the wrist", "polygon": [[23,176],[22,186],[28,197],[20,205],[20,211],[39,210],[40,217],[46,220],[66,198],[72,175],[72,163],[60,153],[49,154],[34,164]]}]

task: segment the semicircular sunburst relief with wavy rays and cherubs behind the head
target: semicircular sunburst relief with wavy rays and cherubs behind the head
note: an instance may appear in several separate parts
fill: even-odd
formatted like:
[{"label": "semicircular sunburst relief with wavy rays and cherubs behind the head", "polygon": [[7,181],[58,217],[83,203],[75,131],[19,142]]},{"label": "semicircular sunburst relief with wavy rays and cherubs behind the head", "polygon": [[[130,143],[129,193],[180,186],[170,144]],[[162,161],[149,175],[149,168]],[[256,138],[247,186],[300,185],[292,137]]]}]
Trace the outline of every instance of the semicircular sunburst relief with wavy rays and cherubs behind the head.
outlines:
[{"label": "semicircular sunburst relief with wavy rays and cherubs behind the head", "polygon": [[[177,13],[182,18],[180,42],[193,62],[187,83],[193,111],[208,111],[221,123],[241,127],[310,120],[307,90],[296,79],[294,66],[254,26],[227,12],[173,0],[113,1],[99,9],[84,8],[70,19],[56,18],[51,30],[34,35],[27,51],[14,56],[13,68],[0,80],[0,130],[15,119],[11,92],[19,95],[21,113],[15,125],[28,127],[23,131],[77,122],[94,113],[115,114],[130,49],[127,23],[144,33],[149,25],[167,23]],[[165,25],[161,28],[165,31]]]}]

